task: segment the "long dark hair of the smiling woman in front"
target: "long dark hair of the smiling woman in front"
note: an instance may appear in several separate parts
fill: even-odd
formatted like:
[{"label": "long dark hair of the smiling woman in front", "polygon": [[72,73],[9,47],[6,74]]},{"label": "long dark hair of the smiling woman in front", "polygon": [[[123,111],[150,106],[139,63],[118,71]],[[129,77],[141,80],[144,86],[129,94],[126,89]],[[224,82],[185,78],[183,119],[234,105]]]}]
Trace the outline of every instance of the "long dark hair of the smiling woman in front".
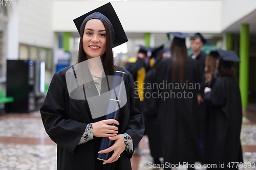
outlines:
[{"label": "long dark hair of the smiling woman in front", "polygon": [[[106,52],[100,58],[101,58],[101,62],[103,65],[105,75],[110,76],[110,75],[114,75],[114,71],[116,70],[116,68],[114,66],[114,57],[113,57],[113,51],[112,51],[114,44],[113,44],[113,40],[112,40],[112,36],[111,36],[110,26],[104,20],[102,20],[102,19],[99,19],[99,20],[103,23],[103,25],[106,29]],[[81,34],[80,34],[77,63],[87,60],[86,53],[83,51],[83,44],[82,44],[82,37],[83,37],[83,33],[84,33],[84,27],[86,27],[86,23],[84,23]]]}]

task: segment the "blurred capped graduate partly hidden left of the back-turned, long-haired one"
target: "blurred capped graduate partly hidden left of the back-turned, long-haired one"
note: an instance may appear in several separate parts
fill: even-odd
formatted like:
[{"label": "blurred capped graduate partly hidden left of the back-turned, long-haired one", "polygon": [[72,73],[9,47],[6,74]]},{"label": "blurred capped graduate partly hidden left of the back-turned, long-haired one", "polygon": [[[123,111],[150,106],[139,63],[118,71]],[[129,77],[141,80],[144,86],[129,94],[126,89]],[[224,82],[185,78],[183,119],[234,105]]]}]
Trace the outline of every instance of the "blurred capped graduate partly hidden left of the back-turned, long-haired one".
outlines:
[{"label": "blurred capped graduate partly hidden left of the back-turned, long-haired one", "polygon": [[[145,79],[145,90],[144,90],[144,124],[145,124],[145,134],[148,137],[148,143],[150,145],[151,156],[155,164],[160,164],[159,158],[162,156],[161,144],[159,144],[160,137],[160,117],[156,110],[157,100],[151,98],[153,93],[153,82],[156,69],[160,61],[165,58],[166,52],[164,51],[164,45],[157,47],[152,51],[151,58],[154,59],[154,66],[146,74]],[[158,128],[156,128],[158,127]]]}]

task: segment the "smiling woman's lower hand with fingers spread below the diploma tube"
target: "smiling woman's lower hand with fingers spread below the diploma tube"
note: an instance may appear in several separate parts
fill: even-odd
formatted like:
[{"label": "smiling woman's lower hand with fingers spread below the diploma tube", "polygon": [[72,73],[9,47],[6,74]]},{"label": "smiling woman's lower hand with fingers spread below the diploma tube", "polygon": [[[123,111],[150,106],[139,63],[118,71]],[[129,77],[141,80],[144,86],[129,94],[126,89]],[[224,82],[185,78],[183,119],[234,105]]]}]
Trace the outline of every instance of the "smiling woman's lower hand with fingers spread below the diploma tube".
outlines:
[{"label": "smiling woman's lower hand with fingers spread below the diploma tube", "polygon": [[108,149],[99,151],[99,154],[104,154],[104,153],[108,153],[111,151],[114,151],[113,155],[106,161],[103,162],[103,164],[106,163],[112,163],[118,160],[118,158],[120,157],[120,154],[124,151],[125,149],[125,144],[123,141],[123,137],[122,135],[116,135],[114,137],[109,137],[110,140],[116,140],[115,143]]}]

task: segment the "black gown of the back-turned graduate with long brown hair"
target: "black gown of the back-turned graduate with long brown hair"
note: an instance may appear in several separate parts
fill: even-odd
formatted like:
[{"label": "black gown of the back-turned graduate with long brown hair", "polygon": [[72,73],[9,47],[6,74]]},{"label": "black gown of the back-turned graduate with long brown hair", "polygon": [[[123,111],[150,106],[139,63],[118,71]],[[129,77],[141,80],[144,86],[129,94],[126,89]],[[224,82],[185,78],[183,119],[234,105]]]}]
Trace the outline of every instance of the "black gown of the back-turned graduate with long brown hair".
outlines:
[{"label": "black gown of the back-turned graduate with long brown hair", "polygon": [[[178,76],[177,76],[178,78]],[[187,58],[184,62],[184,81],[188,87],[180,89],[168,87],[169,83],[179,83],[172,81],[172,58],[164,59],[156,72],[157,84],[160,94],[158,98],[158,113],[161,117],[161,144],[164,162],[168,163],[194,163],[200,161],[199,149],[199,115],[197,104],[198,68],[195,60]],[[191,83],[191,84],[190,84]],[[167,88],[165,85],[167,84]],[[197,86],[196,86],[197,84]],[[193,85],[192,88],[189,85]],[[196,88],[197,87],[197,88]],[[164,99],[164,92],[170,94],[172,98]],[[183,93],[189,93],[188,96]],[[182,95],[180,95],[182,93]],[[192,95],[191,95],[192,94]],[[166,95],[167,96],[167,95]]]}]

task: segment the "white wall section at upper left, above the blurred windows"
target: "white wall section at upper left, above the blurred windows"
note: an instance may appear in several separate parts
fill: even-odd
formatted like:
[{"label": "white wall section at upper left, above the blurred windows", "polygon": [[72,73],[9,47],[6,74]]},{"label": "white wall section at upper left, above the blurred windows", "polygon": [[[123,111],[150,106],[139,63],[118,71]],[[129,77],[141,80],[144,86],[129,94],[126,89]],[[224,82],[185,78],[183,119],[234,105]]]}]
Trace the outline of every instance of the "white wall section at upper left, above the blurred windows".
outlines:
[{"label": "white wall section at upper left, above the blurred windows", "polygon": [[17,8],[19,43],[52,48],[52,1],[33,0]]}]

